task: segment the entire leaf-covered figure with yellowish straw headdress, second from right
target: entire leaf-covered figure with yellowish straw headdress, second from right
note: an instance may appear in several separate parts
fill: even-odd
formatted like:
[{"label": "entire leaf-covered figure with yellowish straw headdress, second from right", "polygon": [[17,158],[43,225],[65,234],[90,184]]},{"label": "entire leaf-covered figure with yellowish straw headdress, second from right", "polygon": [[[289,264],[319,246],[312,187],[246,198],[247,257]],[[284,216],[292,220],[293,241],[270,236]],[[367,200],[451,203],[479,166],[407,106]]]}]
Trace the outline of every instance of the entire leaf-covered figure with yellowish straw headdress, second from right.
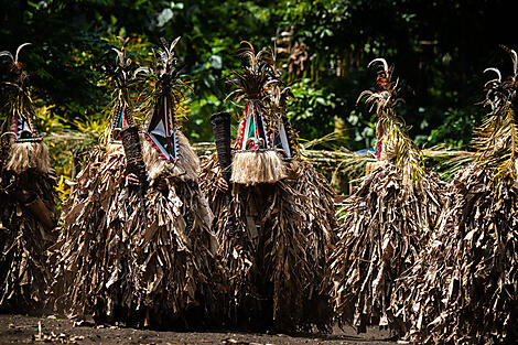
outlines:
[{"label": "entire leaf-covered figure with yellowish straw headdress, second from right", "polygon": [[418,260],[441,209],[442,183],[423,168],[421,151],[396,111],[398,80],[382,58],[376,91],[363,91],[376,107],[378,161],[338,211],[338,242],[331,258],[334,311],[358,332],[369,324],[395,326],[388,311],[396,280]]}]

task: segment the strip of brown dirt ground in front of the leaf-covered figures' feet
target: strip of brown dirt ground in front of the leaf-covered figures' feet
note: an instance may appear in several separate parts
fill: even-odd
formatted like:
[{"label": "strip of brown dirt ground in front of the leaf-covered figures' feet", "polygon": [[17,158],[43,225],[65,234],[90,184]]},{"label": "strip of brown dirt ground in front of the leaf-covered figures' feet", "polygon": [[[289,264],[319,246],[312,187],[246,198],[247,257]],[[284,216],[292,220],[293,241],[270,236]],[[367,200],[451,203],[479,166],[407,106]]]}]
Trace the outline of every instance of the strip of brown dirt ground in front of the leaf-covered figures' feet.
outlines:
[{"label": "strip of brown dirt ground in front of the leaf-covered figures' feet", "polygon": [[363,344],[392,345],[390,334],[377,327],[366,334],[356,334],[347,327],[335,328],[331,335],[284,335],[234,332],[157,332],[117,326],[74,325],[69,320],[0,315],[0,344]]}]

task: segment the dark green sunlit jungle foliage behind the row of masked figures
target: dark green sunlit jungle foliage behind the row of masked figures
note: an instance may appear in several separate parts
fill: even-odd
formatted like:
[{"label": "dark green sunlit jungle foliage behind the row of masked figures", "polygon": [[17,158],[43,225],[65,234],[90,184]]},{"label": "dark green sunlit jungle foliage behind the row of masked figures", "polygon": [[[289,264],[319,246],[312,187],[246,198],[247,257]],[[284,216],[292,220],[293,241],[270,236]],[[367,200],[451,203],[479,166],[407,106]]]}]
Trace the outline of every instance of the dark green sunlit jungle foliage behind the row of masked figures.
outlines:
[{"label": "dark green sunlit jungle foliage behind the row of masked figures", "polygon": [[[295,99],[289,107],[303,141],[316,148],[371,147],[376,116],[356,98],[374,84],[367,64],[386,57],[396,65],[400,114],[423,148],[466,149],[486,111],[486,67],[510,71],[499,44],[516,48],[516,15],[504,0],[43,0],[0,1],[0,50],[24,48],[40,130],[64,181],[74,160],[102,140],[110,90],[104,71],[117,35],[132,37],[133,61],[150,61],[160,37],[182,36],[176,54],[192,91],[183,130],[192,142],[212,141],[211,114],[240,111],[224,103],[225,83],[239,66],[241,40],[274,46]],[[4,68],[7,58],[0,61]],[[501,71],[501,69],[500,69]],[[7,109],[2,109],[4,118]],[[333,133],[330,136],[330,133]]]}]

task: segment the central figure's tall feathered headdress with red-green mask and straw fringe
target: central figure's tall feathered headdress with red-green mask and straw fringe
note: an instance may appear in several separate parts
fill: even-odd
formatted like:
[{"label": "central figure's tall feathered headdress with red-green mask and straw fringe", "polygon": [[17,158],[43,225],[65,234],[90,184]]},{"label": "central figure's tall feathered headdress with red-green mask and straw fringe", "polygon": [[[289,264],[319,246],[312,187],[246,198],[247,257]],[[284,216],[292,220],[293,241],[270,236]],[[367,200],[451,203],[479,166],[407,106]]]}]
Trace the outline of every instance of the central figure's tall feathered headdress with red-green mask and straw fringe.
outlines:
[{"label": "central figure's tall feathered headdress with red-green mask and straw fringe", "polygon": [[237,89],[227,96],[245,103],[231,180],[244,184],[274,183],[287,176],[278,152],[284,152],[287,158],[293,154],[288,122],[283,121],[289,88],[280,89],[280,74],[271,52],[261,50],[256,54],[249,42],[241,44],[245,46],[239,50],[239,56],[246,63],[241,71],[234,71],[235,78],[228,83]]}]

